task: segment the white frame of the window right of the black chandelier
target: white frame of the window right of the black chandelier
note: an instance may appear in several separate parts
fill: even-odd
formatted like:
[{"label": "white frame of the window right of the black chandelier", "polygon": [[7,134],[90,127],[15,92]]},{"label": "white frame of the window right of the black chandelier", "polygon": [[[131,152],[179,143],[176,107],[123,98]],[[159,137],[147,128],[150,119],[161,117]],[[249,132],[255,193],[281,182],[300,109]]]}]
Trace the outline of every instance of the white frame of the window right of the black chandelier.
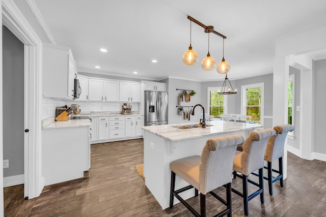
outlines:
[{"label": "white frame of the window right of the black chandelier", "polygon": [[264,125],[264,82],[241,85],[241,114],[247,115],[247,89],[248,88],[261,88],[261,99],[260,99],[260,125]]}]

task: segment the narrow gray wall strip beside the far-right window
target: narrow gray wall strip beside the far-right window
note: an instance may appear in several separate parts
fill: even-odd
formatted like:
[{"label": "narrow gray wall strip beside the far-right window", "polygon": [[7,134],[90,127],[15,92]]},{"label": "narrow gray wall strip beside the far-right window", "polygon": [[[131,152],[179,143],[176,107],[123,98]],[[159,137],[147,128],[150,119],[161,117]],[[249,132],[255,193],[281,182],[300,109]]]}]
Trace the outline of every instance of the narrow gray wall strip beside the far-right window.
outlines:
[{"label": "narrow gray wall strip beside the far-right window", "polygon": [[296,111],[296,106],[300,106],[300,70],[290,67],[289,75],[295,75],[294,80],[294,139],[288,139],[288,145],[292,146],[293,148],[299,149],[300,148],[300,111]]}]

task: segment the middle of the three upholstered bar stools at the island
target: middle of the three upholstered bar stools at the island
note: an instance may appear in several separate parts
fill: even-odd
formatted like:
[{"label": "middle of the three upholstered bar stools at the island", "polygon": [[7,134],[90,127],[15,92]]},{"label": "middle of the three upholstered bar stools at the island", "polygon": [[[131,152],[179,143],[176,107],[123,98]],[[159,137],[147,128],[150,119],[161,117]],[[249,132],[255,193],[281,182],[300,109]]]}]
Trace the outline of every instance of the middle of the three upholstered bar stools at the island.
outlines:
[{"label": "middle of the three upholstered bar stools at the island", "polygon": [[[242,145],[242,151],[236,151],[233,162],[233,175],[242,178],[242,193],[232,189],[232,192],[243,198],[243,211],[245,215],[249,214],[248,201],[260,195],[260,202],[264,203],[264,153],[268,138],[275,136],[273,129],[259,130],[251,132]],[[248,175],[259,170],[259,183],[248,179]],[[238,173],[241,173],[239,175]],[[248,196],[248,182],[256,185],[259,189]]]}]

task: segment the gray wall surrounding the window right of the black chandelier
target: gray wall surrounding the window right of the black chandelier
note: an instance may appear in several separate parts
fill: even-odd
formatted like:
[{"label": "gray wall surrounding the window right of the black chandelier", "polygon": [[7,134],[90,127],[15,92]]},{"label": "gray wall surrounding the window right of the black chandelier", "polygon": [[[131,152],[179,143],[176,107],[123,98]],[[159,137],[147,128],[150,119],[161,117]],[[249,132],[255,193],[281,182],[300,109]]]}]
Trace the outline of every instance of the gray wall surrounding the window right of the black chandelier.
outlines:
[{"label": "gray wall surrounding the window right of the black chandelier", "polygon": [[[241,113],[241,85],[264,83],[264,116],[273,116],[273,74],[236,80],[235,113]],[[272,118],[264,118],[265,128],[273,128]]]}]

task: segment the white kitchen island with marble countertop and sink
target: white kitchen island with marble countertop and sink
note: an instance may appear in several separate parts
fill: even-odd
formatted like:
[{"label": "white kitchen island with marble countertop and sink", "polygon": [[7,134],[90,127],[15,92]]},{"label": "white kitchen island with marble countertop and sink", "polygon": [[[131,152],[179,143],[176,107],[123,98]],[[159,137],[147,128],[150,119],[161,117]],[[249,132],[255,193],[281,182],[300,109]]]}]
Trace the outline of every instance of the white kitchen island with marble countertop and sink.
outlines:
[{"label": "white kitchen island with marble countertop and sink", "polygon": [[[178,125],[160,125],[142,127],[144,130],[144,176],[145,185],[156,198],[162,209],[169,207],[171,170],[170,163],[188,156],[201,155],[206,140],[232,134],[244,137],[262,126],[256,123],[233,121],[207,121],[206,128],[179,129],[178,126],[197,125],[183,123]],[[176,128],[177,127],[177,128]],[[187,182],[176,177],[175,188],[180,189]],[[193,197],[194,191],[183,192],[184,199]],[[175,198],[174,203],[179,203]]]}]

